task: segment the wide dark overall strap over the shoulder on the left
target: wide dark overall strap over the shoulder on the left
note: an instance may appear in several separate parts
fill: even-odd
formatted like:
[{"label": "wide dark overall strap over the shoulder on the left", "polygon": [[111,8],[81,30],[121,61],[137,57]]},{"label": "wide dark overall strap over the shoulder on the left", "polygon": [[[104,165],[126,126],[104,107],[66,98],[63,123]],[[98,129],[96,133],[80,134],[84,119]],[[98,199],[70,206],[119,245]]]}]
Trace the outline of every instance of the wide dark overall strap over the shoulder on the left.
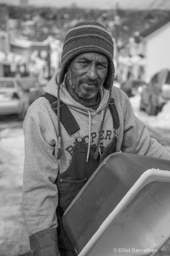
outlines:
[{"label": "wide dark overall strap over the shoulder on the left", "polygon": [[[57,98],[49,93],[45,93],[41,97],[45,97],[55,114],[57,115],[57,107],[58,107],[58,101]],[[60,121],[63,124],[64,128],[68,132],[69,136],[73,136],[74,133],[80,131],[80,127],[78,126],[78,123],[76,122],[76,119],[72,115],[69,108],[60,100]]]}]

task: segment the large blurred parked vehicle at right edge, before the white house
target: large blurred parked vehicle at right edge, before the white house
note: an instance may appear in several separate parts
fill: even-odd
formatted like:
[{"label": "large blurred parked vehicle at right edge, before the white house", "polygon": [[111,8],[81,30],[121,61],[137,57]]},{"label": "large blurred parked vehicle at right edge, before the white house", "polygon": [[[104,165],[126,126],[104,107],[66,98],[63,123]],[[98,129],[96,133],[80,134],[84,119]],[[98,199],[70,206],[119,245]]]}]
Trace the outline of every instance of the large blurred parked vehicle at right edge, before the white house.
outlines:
[{"label": "large blurred parked vehicle at right edge, before the white house", "polygon": [[170,70],[156,73],[148,86],[143,87],[141,96],[140,110],[145,110],[148,115],[157,115],[170,100]]}]

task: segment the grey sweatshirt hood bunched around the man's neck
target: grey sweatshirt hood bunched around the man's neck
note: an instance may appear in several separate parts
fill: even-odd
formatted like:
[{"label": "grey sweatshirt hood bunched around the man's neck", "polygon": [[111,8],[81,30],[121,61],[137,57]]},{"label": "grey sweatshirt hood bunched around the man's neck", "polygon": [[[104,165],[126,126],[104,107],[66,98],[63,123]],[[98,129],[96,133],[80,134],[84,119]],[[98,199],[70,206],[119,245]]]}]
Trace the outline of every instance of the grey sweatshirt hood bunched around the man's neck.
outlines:
[{"label": "grey sweatshirt hood bunched around the man's neck", "polygon": [[[56,98],[57,98],[57,89],[58,89],[57,83],[58,83],[59,76],[60,76],[60,71],[56,72],[53,75],[53,77],[47,84],[46,90],[45,90],[47,93],[55,96]],[[95,111],[91,108],[86,108],[85,106],[83,106],[82,104],[80,104],[79,102],[77,102],[76,100],[74,100],[71,97],[70,93],[66,89],[66,85],[65,85],[66,77],[67,76],[65,75],[63,84],[60,85],[60,100],[64,104],[66,104],[69,108],[72,108],[78,112],[88,115],[87,111],[98,113],[106,107],[107,101],[109,98],[109,91],[104,89],[103,86],[100,88],[100,91],[99,91],[100,97],[101,97],[101,102],[100,102],[99,108]]]}]

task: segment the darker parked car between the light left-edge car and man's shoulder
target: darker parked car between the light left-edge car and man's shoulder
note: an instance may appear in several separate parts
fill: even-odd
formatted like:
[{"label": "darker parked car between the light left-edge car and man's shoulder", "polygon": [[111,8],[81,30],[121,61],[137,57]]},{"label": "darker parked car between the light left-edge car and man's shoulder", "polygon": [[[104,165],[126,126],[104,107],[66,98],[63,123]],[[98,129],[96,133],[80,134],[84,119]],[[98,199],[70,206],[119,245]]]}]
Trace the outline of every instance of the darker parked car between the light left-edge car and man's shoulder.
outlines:
[{"label": "darker parked car between the light left-edge car and man's shoulder", "polygon": [[29,104],[31,105],[34,100],[38,99],[44,94],[40,84],[33,77],[21,77],[17,79],[18,84],[22,86],[23,90],[29,97]]}]

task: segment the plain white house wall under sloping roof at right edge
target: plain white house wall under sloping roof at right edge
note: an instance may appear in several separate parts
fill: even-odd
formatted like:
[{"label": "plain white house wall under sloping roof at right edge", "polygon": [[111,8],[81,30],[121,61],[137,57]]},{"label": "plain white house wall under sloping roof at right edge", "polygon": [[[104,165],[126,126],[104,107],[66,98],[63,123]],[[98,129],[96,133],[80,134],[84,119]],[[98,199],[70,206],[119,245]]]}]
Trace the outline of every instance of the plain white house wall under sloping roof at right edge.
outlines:
[{"label": "plain white house wall under sloping roof at right edge", "polygon": [[164,68],[170,69],[170,23],[148,39],[145,50],[145,80],[149,82],[157,71]]}]

